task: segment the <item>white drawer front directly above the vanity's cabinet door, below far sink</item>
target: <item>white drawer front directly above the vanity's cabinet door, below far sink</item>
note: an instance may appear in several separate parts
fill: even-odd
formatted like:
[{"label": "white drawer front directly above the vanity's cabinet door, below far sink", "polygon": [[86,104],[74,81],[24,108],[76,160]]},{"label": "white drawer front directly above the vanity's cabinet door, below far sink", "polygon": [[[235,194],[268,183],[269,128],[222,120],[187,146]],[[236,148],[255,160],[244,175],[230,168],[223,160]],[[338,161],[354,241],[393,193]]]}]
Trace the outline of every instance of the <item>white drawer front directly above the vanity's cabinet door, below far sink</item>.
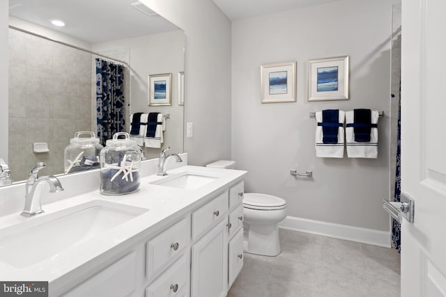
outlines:
[{"label": "white drawer front directly above the vanity's cabinet door, below far sink", "polygon": [[192,213],[192,240],[197,239],[228,211],[228,191]]}]

